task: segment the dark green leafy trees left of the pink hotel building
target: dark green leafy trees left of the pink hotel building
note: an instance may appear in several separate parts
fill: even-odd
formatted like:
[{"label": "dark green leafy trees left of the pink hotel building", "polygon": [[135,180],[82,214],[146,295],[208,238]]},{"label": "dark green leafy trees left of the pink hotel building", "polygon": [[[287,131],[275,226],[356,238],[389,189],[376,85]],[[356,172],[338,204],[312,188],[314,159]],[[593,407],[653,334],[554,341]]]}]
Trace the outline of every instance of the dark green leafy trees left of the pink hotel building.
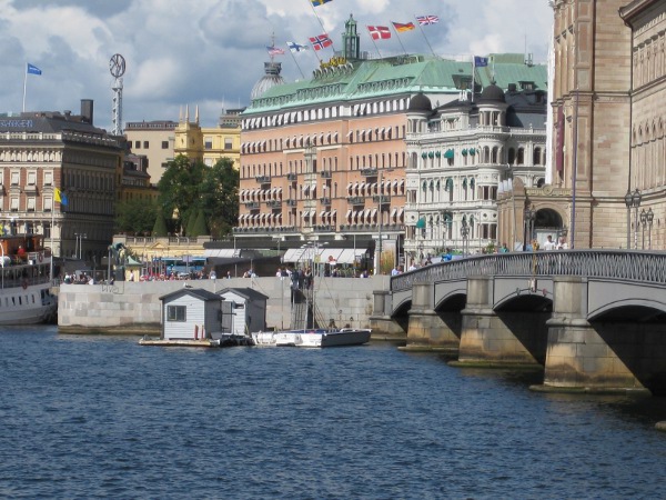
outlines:
[{"label": "dark green leafy trees left of the pink hotel building", "polygon": [[[210,233],[219,238],[231,232],[239,216],[239,172],[233,161],[221,159],[213,167],[200,161],[191,162],[179,156],[169,163],[158,183],[159,203],[165,219],[178,210],[178,224],[188,236]],[[198,224],[199,213],[203,224]]]}]

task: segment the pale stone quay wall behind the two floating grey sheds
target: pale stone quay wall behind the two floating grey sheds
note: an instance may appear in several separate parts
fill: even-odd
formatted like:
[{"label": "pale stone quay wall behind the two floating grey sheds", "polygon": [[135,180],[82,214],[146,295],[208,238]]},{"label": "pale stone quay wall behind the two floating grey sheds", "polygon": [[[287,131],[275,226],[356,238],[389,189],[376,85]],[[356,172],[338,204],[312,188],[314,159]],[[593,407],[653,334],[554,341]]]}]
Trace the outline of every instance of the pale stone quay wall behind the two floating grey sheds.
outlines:
[{"label": "pale stone quay wall behind the two floating grey sheds", "polygon": [[[118,281],[114,284],[61,284],[58,290],[58,330],[61,333],[151,334],[161,332],[160,297],[185,286],[212,292],[252,288],[264,296],[266,328],[290,327],[289,279],[232,278],[188,281]],[[317,318],[337,327],[370,328],[375,290],[389,290],[390,277],[316,278]]]}]

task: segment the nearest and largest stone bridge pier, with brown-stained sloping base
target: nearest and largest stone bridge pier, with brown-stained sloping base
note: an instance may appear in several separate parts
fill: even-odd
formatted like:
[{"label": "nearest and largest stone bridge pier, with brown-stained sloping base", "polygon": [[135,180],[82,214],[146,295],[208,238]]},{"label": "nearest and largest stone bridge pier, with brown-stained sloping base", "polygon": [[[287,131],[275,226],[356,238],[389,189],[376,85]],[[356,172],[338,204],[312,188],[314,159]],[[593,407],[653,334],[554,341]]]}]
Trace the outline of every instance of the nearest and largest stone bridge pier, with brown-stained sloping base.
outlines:
[{"label": "nearest and largest stone bridge pier, with brown-stained sloping base", "polygon": [[[592,392],[643,391],[645,388],[608,346],[608,339],[629,331],[623,323],[587,321],[587,280],[554,277],[553,317],[547,321],[548,346],[543,390]],[[537,388],[538,389],[538,388]]]}]

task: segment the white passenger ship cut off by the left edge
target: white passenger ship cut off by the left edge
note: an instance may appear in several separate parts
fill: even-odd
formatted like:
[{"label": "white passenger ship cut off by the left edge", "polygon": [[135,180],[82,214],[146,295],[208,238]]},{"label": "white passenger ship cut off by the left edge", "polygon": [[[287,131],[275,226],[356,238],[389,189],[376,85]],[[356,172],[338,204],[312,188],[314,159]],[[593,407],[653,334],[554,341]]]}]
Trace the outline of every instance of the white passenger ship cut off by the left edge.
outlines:
[{"label": "white passenger ship cut off by the left edge", "polygon": [[0,326],[57,320],[58,298],[51,293],[53,263],[42,234],[0,237]]}]

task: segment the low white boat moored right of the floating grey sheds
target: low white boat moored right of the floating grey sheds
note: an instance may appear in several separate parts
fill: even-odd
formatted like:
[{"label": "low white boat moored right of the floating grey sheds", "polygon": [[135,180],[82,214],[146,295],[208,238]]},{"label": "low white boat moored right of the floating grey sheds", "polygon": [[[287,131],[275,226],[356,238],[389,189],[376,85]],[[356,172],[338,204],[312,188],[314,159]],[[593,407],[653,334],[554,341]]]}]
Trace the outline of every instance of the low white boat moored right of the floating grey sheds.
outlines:
[{"label": "low white boat moored right of the floating grey sheds", "polygon": [[264,347],[361,346],[370,341],[370,333],[371,330],[365,328],[258,331],[252,333],[252,341]]}]

